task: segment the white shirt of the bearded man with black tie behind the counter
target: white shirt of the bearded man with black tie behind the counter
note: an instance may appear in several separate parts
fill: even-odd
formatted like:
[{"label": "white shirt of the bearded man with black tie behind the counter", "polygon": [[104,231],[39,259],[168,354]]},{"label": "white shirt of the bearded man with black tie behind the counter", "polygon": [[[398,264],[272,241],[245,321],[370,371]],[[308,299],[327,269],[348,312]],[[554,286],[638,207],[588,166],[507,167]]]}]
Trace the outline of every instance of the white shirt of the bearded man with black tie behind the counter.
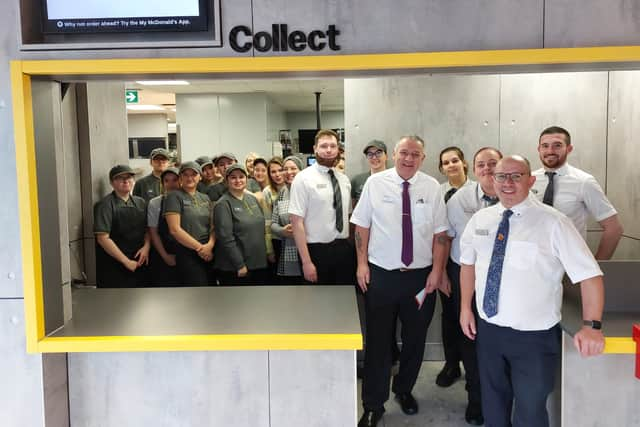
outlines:
[{"label": "white shirt of the bearded man with black tie behind the counter", "polygon": [[289,213],[304,218],[307,243],[329,243],[349,237],[351,182],[345,174],[333,169],[342,195],[343,226],[339,233],[328,171],[328,167],[315,163],[300,171],[291,184]]}]

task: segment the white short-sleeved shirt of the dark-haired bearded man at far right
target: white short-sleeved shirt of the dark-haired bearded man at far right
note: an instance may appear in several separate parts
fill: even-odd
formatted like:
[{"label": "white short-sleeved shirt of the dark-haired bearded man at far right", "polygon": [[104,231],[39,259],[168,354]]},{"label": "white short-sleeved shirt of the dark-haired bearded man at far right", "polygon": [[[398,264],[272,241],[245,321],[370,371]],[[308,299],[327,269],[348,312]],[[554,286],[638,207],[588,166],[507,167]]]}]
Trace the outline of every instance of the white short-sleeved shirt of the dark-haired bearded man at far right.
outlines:
[{"label": "white short-sleeved shirt of the dark-haired bearded man at far right", "polygon": [[[565,163],[553,170],[553,207],[567,215],[583,238],[587,236],[587,218],[591,215],[600,222],[617,213],[595,178],[588,173]],[[545,169],[532,173],[536,182],[531,192],[542,201],[549,178]]]}]

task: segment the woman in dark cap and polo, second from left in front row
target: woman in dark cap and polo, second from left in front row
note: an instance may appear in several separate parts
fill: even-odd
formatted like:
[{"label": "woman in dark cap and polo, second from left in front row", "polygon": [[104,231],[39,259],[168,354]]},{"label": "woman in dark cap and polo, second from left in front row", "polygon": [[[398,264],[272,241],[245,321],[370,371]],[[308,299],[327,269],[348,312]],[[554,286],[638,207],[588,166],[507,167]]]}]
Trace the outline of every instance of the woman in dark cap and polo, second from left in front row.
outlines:
[{"label": "woman in dark cap and polo, second from left in front row", "polygon": [[167,194],[163,215],[169,233],[176,240],[176,267],[184,286],[215,284],[211,269],[215,236],[211,201],[196,188],[200,166],[186,162],[180,166],[180,189]]}]

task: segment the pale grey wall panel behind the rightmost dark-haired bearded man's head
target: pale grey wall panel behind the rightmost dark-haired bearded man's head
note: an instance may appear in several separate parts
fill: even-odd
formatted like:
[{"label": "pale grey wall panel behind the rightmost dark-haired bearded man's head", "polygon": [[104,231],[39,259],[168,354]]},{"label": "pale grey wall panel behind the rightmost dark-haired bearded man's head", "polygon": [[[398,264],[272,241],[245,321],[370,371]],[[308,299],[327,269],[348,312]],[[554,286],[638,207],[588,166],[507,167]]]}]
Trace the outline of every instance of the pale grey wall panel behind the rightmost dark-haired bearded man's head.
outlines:
[{"label": "pale grey wall panel behind the rightmost dark-haired bearded man's head", "polygon": [[531,167],[542,165],[538,136],[552,125],[571,133],[569,163],[595,176],[605,187],[607,161],[607,73],[502,75],[500,148],[521,154]]}]

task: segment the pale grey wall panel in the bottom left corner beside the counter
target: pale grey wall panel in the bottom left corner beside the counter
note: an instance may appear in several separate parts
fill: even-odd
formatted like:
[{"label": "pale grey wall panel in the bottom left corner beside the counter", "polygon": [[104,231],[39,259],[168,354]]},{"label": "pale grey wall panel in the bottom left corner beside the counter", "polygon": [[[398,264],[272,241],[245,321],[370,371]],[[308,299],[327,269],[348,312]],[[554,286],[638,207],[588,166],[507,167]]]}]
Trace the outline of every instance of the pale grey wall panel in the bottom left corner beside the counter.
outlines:
[{"label": "pale grey wall panel in the bottom left corner beside the counter", "polygon": [[44,427],[42,356],[26,353],[23,316],[21,299],[0,299],[0,423]]}]

